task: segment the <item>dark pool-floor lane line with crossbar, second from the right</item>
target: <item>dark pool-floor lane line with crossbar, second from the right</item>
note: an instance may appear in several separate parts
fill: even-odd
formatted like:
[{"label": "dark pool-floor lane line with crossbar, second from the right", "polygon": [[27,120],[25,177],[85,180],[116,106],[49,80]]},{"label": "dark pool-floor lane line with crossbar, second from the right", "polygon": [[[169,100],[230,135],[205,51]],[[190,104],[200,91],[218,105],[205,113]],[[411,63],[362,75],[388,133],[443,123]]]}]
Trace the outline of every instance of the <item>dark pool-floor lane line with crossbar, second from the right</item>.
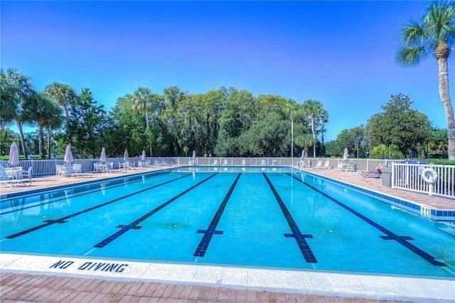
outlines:
[{"label": "dark pool-floor lane line with crossbar, second from the right", "polygon": [[299,226],[297,226],[296,222],[294,221],[294,218],[292,218],[291,213],[289,213],[286,205],[284,205],[284,202],[282,198],[279,196],[277,190],[274,188],[272,185],[272,182],[270,182],[269,178],[267,178],[267,175],[262,173],[264,175],[264,178],[267,180],[267,183],[270,186],[270,189],[272,189],[272,192],[277,199],[277,202],[279,204],[279,207],[282,209],[282,212],[284,214],[284,218],[286,218],[287,223],[289,224],[289,228],[291,228],[292,233],[285,233],[284,236],[287,238],[295,238],[297,245],[299,245],[301,254],[304,256],[306,262],[308,263],[317,263],[318,260],[316,260],[316,257],[314,256],[313,251],[311,251],[310,245],[306,243],[305,238],[313,238],[313,235],[304,235],[301,233]]}]

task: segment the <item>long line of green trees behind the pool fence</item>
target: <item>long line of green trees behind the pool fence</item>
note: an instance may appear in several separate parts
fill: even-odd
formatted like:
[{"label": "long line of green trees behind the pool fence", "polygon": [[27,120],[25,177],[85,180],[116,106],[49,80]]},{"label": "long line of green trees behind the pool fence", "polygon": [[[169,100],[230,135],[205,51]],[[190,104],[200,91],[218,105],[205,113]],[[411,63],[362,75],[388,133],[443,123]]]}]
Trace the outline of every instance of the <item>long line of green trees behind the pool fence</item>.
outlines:
[{"label": "long line of green trees behind the pool fence", "polygon": [[[200,156],[300,156],[302,149],[306,156],[341,156],[346,147],[356,157],[446,156],[446,130],[432,127],[402,94],[392,95],[365,126],[324,142],[328,112],[319,100],[297,103],[235,87],[200,94],[138,87],[107,111],[89,88],[77,93],[68,84],[50,83],[36,92],[31,78],[15,69],[1,70],[0,80],[1,154],[20,139],[24,156],[41,159],[63,154],[67,144],[81,158],[97,158],[102,147],[108,156],[124,149],[149,156],[190,156],[193,150]],[[8,128],[13,123],[17,137]],[[23,134],[24,124],[38,130]]]}]

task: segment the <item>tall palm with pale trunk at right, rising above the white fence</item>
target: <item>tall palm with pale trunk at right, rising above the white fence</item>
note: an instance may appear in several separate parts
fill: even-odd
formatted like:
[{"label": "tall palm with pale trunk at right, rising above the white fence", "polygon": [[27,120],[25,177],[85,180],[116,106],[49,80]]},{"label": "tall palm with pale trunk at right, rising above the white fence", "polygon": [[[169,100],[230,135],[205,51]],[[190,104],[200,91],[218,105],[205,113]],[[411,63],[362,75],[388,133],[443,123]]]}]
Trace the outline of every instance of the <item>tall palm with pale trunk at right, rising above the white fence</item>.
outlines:
[{"label": "tall palm with pale trunk at right, rising above the white fence", "polygon": [[446,112],[449,131],[449,159],[455,160],[455,120],[449,95],[447,58],[455,42],[455,4],[433,1],[420,21],[411,20],[401,29],[397,65],[414,67],[433,54],[438,62],[439,97]]}]

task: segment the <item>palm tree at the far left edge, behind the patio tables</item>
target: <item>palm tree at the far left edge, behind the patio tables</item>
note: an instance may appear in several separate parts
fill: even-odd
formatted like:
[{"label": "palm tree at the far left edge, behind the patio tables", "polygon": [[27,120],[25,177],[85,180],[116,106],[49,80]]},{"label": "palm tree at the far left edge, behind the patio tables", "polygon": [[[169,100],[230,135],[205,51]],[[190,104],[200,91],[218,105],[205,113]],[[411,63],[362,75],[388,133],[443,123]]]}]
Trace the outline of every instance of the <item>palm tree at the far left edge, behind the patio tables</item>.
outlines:
[{"label": "palm tree at the far left edge, behind the patio tables", "polygon": [[22,124],[27,122],[22,115],[22,105],[25,100],[36,94],[30,83],[30,77],[23,75],[15,68],[4,72],[0,70],[0,124],[11,125],[16,122],[23,155],[27,158],[26,144],[23,139]]}]

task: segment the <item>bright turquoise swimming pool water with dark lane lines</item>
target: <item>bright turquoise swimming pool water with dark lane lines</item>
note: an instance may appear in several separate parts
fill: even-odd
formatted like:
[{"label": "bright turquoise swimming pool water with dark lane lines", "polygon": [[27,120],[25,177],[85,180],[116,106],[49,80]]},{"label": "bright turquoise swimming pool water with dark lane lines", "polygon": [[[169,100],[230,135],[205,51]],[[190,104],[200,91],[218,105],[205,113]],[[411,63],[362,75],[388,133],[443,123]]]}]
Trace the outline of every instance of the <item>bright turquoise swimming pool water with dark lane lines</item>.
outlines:
[{"label": "bright turquoise swimming pool water with dark lane lines", "polygon": [[455,278],[455,237],[289,168],[183,168],[1,200],[0,249]]}]

